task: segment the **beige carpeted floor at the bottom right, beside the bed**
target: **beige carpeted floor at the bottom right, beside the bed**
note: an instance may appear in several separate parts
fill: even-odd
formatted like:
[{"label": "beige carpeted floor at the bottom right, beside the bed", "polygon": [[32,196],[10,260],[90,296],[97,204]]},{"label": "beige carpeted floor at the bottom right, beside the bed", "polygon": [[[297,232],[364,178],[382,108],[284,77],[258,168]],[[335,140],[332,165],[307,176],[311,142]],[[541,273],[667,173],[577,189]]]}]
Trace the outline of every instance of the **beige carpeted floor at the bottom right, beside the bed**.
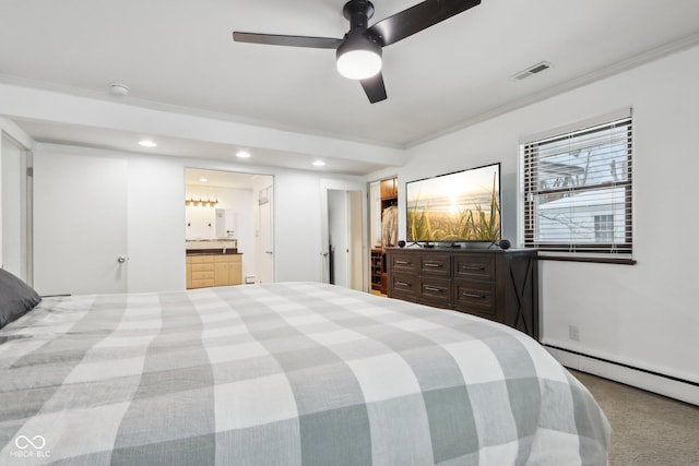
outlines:
[{"label": "beige carpeted floor at the bottom right, beside the bed", "polygon": [[612,425],[609,466],[699,465],[699,407],[572,371]]}]

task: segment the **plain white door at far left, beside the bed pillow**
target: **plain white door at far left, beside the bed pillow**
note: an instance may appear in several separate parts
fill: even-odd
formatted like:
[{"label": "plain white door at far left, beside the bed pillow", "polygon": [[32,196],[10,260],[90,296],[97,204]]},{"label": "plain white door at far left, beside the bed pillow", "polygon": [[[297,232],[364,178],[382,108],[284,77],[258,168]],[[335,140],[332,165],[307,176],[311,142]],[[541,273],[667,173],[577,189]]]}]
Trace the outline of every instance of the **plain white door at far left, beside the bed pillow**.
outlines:
[{"label": "plain white door at far left, beside the bed pillow", "polygon": [[123,159],[35,154],[34,286],[39,294],[127,290],[127,175]]}]

